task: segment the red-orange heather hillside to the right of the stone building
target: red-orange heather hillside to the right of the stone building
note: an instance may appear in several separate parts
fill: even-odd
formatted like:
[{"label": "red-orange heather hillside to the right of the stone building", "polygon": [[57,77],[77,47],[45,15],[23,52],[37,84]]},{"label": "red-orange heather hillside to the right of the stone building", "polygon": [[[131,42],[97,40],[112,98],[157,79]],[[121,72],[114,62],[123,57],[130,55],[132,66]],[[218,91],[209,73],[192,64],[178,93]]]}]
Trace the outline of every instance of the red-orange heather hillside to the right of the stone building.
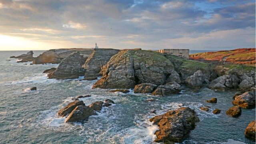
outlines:
[{"label": "red-orange heather hillside to the right of the stone building", "polygon": [[220,61],[255,66],[255,48],[239,48],[190,54],[191,60]]}]

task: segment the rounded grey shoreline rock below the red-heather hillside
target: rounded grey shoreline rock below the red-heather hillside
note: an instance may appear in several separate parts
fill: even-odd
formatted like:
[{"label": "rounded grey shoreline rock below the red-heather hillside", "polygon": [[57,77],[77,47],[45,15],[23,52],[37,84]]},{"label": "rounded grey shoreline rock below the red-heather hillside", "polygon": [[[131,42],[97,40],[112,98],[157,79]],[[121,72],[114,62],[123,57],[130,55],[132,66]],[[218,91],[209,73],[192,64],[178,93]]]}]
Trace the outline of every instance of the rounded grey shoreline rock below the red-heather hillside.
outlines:
[{"label": "rounded grey shoreline rock below the red-heather hillside", "polygon": [[229,90],[238,88],[238,78],[235,75],[224,75],[211,81],[208,87],[213,90]]}]

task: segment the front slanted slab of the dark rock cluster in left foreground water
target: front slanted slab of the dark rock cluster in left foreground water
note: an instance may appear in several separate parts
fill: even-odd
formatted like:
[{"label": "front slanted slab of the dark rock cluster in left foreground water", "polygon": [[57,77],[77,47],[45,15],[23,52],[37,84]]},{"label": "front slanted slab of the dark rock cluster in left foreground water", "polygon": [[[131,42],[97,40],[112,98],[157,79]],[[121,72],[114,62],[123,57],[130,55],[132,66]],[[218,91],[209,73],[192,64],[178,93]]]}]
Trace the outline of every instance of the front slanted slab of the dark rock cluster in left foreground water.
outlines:
[{"label": "front slanted slab of the dark rock cluster in left foreground water", "polygon": [[79,122],[87,120],[89,116],[96,115],[96,112],[89,106],[76,106],[74,110],[65,119],[65,122]]}]

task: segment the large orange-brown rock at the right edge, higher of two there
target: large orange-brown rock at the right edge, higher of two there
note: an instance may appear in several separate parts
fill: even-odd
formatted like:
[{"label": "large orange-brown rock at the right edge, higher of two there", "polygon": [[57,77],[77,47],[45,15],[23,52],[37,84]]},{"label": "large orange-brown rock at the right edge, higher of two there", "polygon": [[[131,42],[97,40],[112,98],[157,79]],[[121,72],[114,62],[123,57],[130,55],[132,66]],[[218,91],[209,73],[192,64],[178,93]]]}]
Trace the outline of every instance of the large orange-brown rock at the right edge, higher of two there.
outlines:
[{"label": "large orange-brown rock at the right edge, higher of two there", "polygon": [[255,91],[245,92],[235,97],[232,104],[238,105],[241,108],[255,108]]}]

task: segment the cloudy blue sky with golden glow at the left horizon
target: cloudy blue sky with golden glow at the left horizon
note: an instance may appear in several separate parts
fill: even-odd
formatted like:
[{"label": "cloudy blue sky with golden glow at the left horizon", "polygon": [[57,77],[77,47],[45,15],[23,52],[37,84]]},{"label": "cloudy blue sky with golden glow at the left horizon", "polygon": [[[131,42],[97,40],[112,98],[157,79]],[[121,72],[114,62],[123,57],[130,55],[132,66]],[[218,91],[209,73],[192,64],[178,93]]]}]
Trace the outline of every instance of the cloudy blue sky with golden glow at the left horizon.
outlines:
[{"label": "cloudy blue sky with golden glow at the left horizon", "polygon": [[255,0],[0,0],[0,50],[255,48]]}]

